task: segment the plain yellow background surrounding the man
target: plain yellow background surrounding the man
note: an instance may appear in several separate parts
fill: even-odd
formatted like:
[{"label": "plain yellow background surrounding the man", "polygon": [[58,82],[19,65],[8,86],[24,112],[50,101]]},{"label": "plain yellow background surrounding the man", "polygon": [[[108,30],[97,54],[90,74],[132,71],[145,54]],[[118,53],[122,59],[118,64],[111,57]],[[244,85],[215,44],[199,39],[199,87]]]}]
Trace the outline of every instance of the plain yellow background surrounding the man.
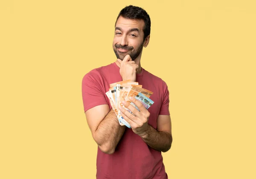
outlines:
[{"label": "plain yellow background surrounding the man", "polygon": [[142,66],[170,91],[170,179],[255,179],[254,0],[0,0],[0,178],[94,179],[81,80],[116,60],[126,5],[151,17]]}]

